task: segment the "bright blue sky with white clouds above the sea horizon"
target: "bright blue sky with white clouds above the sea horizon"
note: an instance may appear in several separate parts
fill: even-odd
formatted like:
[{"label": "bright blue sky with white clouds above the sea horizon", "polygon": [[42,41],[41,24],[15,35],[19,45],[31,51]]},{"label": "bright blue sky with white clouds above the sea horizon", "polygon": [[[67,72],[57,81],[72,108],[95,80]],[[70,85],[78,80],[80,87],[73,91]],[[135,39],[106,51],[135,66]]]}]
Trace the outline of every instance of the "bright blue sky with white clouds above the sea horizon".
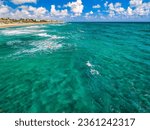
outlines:
[{"label": "bright blue sky with white clouds above the sea horizon", "polygon": [[0,17],[150,21],[149,0],[0,0]]}]

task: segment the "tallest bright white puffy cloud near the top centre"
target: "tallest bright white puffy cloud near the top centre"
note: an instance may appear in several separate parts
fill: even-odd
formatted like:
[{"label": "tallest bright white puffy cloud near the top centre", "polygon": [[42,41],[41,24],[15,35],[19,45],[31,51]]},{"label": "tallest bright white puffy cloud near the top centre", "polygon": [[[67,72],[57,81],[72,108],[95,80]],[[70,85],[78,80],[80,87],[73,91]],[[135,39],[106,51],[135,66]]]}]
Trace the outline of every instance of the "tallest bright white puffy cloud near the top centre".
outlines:
[{"label": "tallest bright white puffy cloud near the top centre", "polygon": [[75,16],[80,16],[84,9],[81,0],[77,0],[76,2],[69,2],[65,5],[65,7],[70,7]]}]

